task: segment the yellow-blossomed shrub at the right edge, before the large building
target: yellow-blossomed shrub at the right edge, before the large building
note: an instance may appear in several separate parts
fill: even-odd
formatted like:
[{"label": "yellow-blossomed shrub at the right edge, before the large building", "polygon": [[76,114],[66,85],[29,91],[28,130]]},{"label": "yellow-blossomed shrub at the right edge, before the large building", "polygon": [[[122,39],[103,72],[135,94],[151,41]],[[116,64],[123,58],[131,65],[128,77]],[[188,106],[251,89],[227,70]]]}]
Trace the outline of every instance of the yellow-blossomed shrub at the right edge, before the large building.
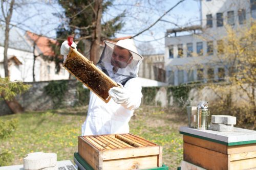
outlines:
[{"label": "yellow-blossomed shrub at the right edge, before the large building", "polygon": [[[254,119],[254,125],[256,125],[256,22],[251,22],[249,27],[238,30],[227,26],[227,33],[224,39],[226,45],[223,47],[223,57],[224,61],[229,63],[226,66],[229,72],[228,81],[246,96],[245,101],[251,109],[249,119],[252,118],[252,121]],[[232,95],[231,92],[230,95]],[[232,99],[231,96],[230,99]]]}]

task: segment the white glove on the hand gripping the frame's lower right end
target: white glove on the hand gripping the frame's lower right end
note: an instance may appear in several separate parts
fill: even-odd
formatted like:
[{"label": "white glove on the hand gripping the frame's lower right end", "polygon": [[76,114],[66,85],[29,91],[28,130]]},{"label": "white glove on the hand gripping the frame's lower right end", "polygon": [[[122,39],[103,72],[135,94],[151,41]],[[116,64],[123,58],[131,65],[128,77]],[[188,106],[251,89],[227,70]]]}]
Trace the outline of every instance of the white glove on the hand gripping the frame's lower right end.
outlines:
[{"label": "white glove on the hand gripping the frame's lower right end", "polygon": [[131,92],[125,89],[122,84],[117,83],[120,87],[112,87],[109,90],[109,95],[117,103],[121,104],[125,109],[134,110],[137,103],[134,104],[131,98]]}]

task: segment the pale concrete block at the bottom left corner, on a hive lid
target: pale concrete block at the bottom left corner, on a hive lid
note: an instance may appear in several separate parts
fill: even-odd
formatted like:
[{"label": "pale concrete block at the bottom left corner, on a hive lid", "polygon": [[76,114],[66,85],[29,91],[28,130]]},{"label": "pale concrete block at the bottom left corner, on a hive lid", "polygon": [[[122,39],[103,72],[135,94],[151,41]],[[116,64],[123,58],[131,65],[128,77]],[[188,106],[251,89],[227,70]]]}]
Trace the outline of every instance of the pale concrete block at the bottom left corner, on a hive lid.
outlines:
[{"label": "pale concrete block at the bottom left corner, on a hive lid", "polygon": [[54,167],[57,165],[57,154],[44,152],[30,153],[27,157],[23,158],[23,164],[26,170]]}]

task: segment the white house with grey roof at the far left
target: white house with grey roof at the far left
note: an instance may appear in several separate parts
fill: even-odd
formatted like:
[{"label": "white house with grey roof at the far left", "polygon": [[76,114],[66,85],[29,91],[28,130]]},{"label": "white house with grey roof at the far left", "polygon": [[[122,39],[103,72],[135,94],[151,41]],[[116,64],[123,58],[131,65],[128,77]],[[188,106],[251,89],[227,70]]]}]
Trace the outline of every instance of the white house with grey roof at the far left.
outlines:
[{"label": "white house with grey roof at the far left", "polygon": [[[4,27],[0,26],[0,76],[5,77],[4,70]],[[9,48],[7,51],[9,77],[11,81],[33,81],[33,48],[25,40],[24,36],[15,28],[9,33]],[[35,62],[35,79],[40,80],[38,62]]]}]

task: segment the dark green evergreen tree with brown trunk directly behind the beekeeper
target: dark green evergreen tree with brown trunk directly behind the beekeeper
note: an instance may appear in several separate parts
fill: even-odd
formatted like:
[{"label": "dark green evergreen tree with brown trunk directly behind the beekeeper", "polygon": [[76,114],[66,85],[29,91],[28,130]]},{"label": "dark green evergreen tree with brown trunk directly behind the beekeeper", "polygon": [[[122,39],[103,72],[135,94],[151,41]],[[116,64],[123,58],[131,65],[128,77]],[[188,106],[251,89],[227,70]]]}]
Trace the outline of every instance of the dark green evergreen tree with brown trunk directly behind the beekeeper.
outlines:
[{"label": "dark green evergreen tree with brown trunk directly behind the beekeeper", "polygon": [[[114,37],[115,32],[122,28],[121,17],[124,12],[106,22],[102,22],[102,15],[106,9],[112,6],[112,1],[59,1],[59,4],[65,10],[66,21],[59,26],[57,38],[66,40],[67,33],[75,33],[75,41],[79,41],[80,46],[83,46],[83,42],[80,40],[90,40],[90,60],[96,64],[99,59],[101,40]],[[61,43],[59,42],[59,44]]]}]

